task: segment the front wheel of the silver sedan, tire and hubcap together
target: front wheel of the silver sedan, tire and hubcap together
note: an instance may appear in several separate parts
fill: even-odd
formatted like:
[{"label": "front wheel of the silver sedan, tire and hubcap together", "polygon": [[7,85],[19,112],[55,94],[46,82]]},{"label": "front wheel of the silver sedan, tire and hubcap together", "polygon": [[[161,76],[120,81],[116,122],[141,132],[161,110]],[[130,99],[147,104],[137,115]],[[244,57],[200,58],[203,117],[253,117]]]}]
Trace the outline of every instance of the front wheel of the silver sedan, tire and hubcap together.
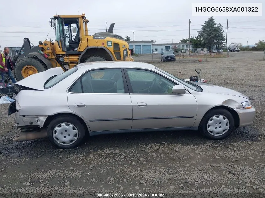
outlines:
[{"label": "front wheel of the silver sedan, tire and hubcap together", "polygon": [[228,110],[214,109],[204,116],[199,130],[209,139],[221,140],[231,134],[234,126],[234,118]]}]

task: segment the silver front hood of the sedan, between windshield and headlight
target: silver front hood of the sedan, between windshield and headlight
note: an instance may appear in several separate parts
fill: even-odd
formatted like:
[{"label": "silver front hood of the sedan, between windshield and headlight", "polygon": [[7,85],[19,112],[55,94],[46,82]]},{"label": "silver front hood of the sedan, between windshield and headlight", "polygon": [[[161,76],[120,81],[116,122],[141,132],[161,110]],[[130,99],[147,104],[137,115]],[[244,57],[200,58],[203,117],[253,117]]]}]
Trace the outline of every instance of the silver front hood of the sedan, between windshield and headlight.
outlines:
[{"label": "silver front hood of the sedan, between windshield and headlight", "polygon": [[199,82],[192,82],[194,84],[199,85],[204,92],[213,93],[213,94],[227,94],[227,95],[233,95],[233,96],[240,96],[246,99],[249,99],[246,95],[241,94],[240,92],[237,92],[232,89],[228,89],[225,87],[220,87],[214,84],[207,84],[207,83],[199,83]]}]

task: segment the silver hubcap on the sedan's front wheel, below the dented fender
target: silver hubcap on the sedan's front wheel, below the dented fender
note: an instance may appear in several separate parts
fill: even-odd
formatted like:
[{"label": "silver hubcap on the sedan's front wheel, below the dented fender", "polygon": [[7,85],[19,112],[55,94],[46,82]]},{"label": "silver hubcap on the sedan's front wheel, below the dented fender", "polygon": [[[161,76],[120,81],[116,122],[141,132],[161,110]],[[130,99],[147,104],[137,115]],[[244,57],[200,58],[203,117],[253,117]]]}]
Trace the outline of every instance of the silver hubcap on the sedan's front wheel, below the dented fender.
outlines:
[{"label": "silver hubcap on the sedan's front wheel, below the dented fender", "polygon": [[214,115],[207,123],[207,131],[214,136],[223,135],[229,129],[229,120],[224,115]]}]

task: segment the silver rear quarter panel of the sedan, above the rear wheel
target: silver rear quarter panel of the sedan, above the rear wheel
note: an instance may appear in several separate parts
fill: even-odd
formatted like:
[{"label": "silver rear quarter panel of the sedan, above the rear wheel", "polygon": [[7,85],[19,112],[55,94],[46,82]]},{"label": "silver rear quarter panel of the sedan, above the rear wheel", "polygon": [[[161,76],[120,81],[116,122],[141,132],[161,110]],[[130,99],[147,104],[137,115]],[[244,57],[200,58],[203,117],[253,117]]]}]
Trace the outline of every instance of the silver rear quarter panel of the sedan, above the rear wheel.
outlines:
[{"label": "silver rear quarter panel of the sedan, above the rear wheel", "polygon": [[83,72],[83,69],[78,69],[75,73],[49,89],[41,91],[21,90],[15,98],[21,107],[21,110],[16,112],[16,117],[21,117],[22,115],[35,117],[36,115],[49,116],[59,113],[71,113],[79,116],[87,125],[88,130],[90,130],[87,121],[82,115],[73,112],[68,106],[67,89]]}]

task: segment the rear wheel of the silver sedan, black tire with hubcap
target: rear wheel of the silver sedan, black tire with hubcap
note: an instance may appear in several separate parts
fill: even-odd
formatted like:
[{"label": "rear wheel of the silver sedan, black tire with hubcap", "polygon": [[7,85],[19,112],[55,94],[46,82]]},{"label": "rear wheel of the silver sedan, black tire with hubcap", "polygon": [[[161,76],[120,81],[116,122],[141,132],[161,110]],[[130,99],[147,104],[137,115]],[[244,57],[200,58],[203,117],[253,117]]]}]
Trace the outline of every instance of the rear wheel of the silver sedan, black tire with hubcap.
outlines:
[{"label": "rear wheel of the silver sedan, black tire with hubcap", "polygon": [[[67,131],[66,127],[62,126],[61,123],[67,123],[67,124],[65,124],[66,126],[68,124],[72,124],[73,125],[72,129],[75,129],[77,131],[77,133],[75,131],[72,132],[71,128],[70,128],[70,132]],[[59,138],[61,137],[61,140],[64,140],[64,138],[69,137],[68,143],[67,142],[59,143],[61,140],[59,138],[56,138],[56,137],[54,138],[54,135],[56,134],[55,128],[57,126],[59,128],[59,129],[57,129],[58,137]],[[58,131],[60,131],[61,127],[62,127],[61,133],[63,133],[62,135],[58,133]],[[64,128],[65,128],[65,130],[64,130]],[[71,133],[71,135],[70,135],[70,133]],[[75,147],[79,146],[82,143],[82,140],[84,139],[85,135],[86,135],[85,126],[78,119],[76,119],[76,117],[71,116],[71,115],[64,115],[64,116],[60,116],[60,117],[53,119],[47,128],[47,136],[48,136],[50,143],[59,149],[70,149],[70,148],[75,148]],[[70,136],[72,138],[70,138]],[[76,140],[74,140],[75,139],[74,137],[76,138]],[[72,140],[72,142],[71,142],[71,140]],[[67,139],[66,139],[66,141],[67,141]]]}]

